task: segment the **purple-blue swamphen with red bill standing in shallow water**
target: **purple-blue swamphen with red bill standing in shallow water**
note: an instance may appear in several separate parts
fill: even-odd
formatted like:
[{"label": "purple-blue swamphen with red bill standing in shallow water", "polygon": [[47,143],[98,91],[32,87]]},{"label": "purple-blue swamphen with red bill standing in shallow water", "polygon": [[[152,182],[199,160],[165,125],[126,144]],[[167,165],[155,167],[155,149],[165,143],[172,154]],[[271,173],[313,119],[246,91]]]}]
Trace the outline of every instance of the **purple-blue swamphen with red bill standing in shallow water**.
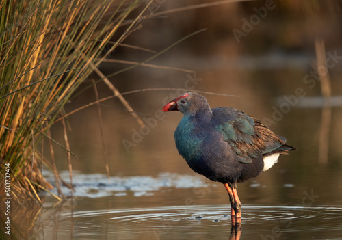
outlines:
[{"label": "purple-blue swamphen with red bill standing in shallow water", "polygon": [[258,176],[272,168],[280,154],[295,150],[261,121],[231,107],[211,109],[196,92],[182,94],[163,111],[184,114],[174,132],[176,148],[194,172],[224,184],[234,223],[241,223],[237,183]]}]

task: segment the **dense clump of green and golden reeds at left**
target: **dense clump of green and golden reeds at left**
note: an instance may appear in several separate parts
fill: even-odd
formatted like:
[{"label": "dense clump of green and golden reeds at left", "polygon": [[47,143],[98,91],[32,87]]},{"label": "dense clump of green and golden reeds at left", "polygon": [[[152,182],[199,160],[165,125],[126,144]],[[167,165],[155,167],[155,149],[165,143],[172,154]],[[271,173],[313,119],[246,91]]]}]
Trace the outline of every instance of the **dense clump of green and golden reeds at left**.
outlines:
[{"label": "dense clump of green and golden reeds at left", "polygon": [[41,147],[52,141],[51,125],[79,85],[137,28],[146,4],[1,1],[0,196],[5,196],[6,166],[12,198],[40,201],[38,190],[51,188],[42,165],[59,176]]}]

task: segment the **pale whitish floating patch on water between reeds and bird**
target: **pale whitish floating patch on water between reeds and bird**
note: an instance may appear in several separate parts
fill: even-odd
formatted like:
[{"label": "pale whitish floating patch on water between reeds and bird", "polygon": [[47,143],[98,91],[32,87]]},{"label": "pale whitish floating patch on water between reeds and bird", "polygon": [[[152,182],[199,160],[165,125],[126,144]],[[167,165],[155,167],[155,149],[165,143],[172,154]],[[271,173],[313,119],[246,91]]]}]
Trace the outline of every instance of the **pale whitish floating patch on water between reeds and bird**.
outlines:
[{"label": "pale whitish floating patch on water between reeds and bird", "polygon": [[[62,178],[69,178],[68,171],[61,172]],[[53,174],[44,174],[47,181],[54,183]],[[209,187],[209,183],[201,176],[179,175],[171,173],[159,174],[153,176],[112,176],[107,178],[105,174],[79,174],[73,172],[73,187],[75,192],[73,196],[101,198],[105,196],[126,196],[127,191],[133,191],[133,196],[152,196],[156,191],[163,187],[198,188]],[[215,185],[213,185],[215,187]],[[68,187],[62,187],[63,194],[70,196],[71,191]],[[53,194],[57,194],[57,189],[52,190]]]}]

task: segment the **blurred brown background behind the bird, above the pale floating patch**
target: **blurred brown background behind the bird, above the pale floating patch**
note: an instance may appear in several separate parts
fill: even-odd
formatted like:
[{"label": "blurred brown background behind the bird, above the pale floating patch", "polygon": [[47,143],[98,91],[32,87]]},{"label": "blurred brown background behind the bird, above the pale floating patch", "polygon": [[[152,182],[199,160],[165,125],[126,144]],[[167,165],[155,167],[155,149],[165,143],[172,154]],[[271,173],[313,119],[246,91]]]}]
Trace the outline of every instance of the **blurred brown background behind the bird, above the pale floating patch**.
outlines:
[{"label": "blurred brown background behind the bird, above the pale floating patch", "polygon": [[[265,3],[273,3],[272,9],[267,10]],[[143,21],[142,28],[134,31],[125,44],[158,53],[195,31],[205,31],[151,60],[148,62],[150,67],[137,66],[109,77],[111,83],[120,92],[187,88],[237,95],[204,94],[211,107],[235,107],[263,120],[274,132],[287,137],[288,144],[296,146],[298,151],[291,152],[291,156],[286,156],[280,164],[287,165],[288,171],[299,171],[291,165],[302,164],[304,168],[307,164],[310,168],[310,165],[319,164],[319,139],[326,137],[320,135],[324,101],[315,51],[315,42],[321,39],[325,45],[325,58],[331,59],[328,60],[328,65],[331,65],[328,76],[334,104],[327,139],[328,159],[321,161],[333,168],[340,166],[341,127],[338,123],[342,101],[338,100],[342,87],[342,28],[339,1],[245,1],[200,8],[201,4],[211,5],[208,1],[165,1],[158,5],[156,16]],[[183,10],[186,7],[189,9]],[[259,13],[263,18],[256,10],[265,12],[264,16]],[[252,26],[250,30],[246,21]],[[243,28],[250,32],[245,33]],[[109,57],[143,62],[153,55],[155,53],[121,46]],[[127,66],[130,65],[107,62],[101,65],[101,71],[110,75]],[[181,70],[174,70],[176,68]],[[93,75],[92,79],[98,77]],[[98,83],[97,88],[100,98],[112,94],[105,83]],[[155,90],[127,94],[124,98],[134,111],[141,113],[140,118],[146,120],[154,118],[166,101],[183,92]],[[94,90],[90,88],[73,98],[66,110],[72,111],[93,101]],[[174,146],[173,133],[182,114],[159,113],[161,118],[151,120],[152,128],[148,126],[143,133],[135,134],[141,126],[118,99],[102,102],[101,111],[106,153],[103,152],[96,106],[68,117],[70,149],[78,157],[73,159],[74,170],[105,173],[107,158],[111,176],[154,175],[159,172],[192,174],[192,170],[185,168],[185,161]],[[63,142],[61,128],[55,124],[53,129],[53,136],[58,142]],[[58,148],[55,151],[57,168],[67,170],[66,152]],[[276,171],[267,173],[268,176],[272,174],[278,176]]]}]

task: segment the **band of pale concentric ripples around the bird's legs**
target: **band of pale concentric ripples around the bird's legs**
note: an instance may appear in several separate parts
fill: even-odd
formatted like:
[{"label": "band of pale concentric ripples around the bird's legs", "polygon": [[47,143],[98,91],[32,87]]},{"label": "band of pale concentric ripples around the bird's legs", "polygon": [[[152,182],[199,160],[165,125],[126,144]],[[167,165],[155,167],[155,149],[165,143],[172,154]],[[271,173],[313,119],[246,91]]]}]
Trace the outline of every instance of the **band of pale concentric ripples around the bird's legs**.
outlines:
[{"label": "band of pale concentric ripples around the bird's legs", "polygon": [[[113,209],[105,211],[78,211],[73,217],[105,216],[111,221],[133,226],[150,226],[158,228],[167,221],[179,222],[181,226],[202,227],[212,222],[230,224],[228,205],[196,205],[196,206],[164,206],[156,208]],[[324,228],[340,229],[342,207],[338,206],[244,206],[242,222],[245,224],[260,224],[265,222],[300,222],[310,219],[315,222],[327,222]],[[70,217],[66,214],[65,217]],[[336,221],[336,224],[332,220]],[[315,226],[317,228],[317,226]],[[310,226],[306,228],[310,230]]]}]

